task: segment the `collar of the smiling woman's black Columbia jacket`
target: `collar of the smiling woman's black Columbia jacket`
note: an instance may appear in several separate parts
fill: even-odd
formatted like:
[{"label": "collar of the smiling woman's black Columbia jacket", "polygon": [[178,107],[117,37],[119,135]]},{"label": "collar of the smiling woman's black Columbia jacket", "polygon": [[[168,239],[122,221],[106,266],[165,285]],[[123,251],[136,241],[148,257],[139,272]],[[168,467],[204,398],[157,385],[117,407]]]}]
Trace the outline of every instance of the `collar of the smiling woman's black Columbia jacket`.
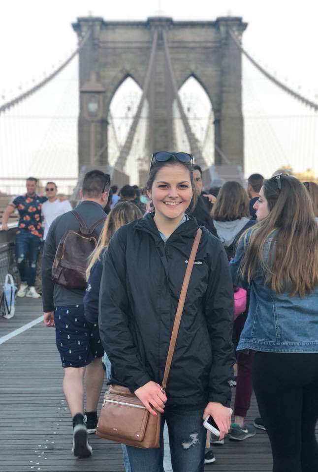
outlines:
[{"label": "collar of the smiling woman's black Columbia jacket", "polygon": [[[155,239],[156,243],[159,244],[160,242],[162,242],[162,238],[159,235],[158,228],[154,221],[154,216],[154,212],[147,213],[146,216],[137,221],[135,229],[151,234],[151,236],[153,236],[153,238]],[[198,224],[196,222],[196,219],[189,216],[189,219],[182,223],[180,226],[178,226],[178,228],[176,228],[174,232],[168,237],[167,243],[177,239],[180,236],[193,238],[197,229]]]}]

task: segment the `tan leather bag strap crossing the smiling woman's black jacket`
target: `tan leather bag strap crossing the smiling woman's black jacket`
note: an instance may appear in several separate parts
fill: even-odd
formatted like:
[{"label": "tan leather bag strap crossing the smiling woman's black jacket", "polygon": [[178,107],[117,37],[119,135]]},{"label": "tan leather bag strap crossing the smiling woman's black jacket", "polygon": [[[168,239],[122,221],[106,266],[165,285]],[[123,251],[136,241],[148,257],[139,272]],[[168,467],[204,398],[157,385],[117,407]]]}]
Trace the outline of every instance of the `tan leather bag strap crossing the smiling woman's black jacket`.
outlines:
[{"label": "tan leather bag strap crossing the smiling woman's black jacket", "polygon": [[202,230],[199,228],[196,232],[196,235],[195,235],[195,238],[194,238],[194,241],[193,241],[193,244],[192,244],[191,254],[190,254],[190,257],[189,257],[189,262],[188,262],[188,266],[187,266],[187,269],[186,269],[186,273],[185,273],[185,276],[184,276],[184,279],[183,279],[183,284],[182,284],[182,289],[181,289],[181,293],[180,293],[180,297],[179,297],[177,312],[176,312],[176,316],[175,316],[174,323],[173,323],[171,339],[170,339],[170,344],[169,344],[169,349],[168,349],[168,355],[167,355],[167,360],[166,360],[166,363],[165,363],[163,380],[162,380],[162,384],[161,384],[161,390],[163,390],[163,391],[165,390],[165,388],[167,386],[168,375],[169,375],[169,371],[170,371],[170,366],[171,366],[171,361],[172,361],[174,348],[175,348],[176,341],[177,341],[177,336],[178,336],[179,326],[180,326],[180,322],[181,322],[183,307],[184,307],[184,304],[185,304],[185,301],[186,301],[186,295],[187,295],[188,286],[189,286],[189,282],[190,282],[191,272],[192,272],[195,256],[196,256],[196,253],[197,253],[197,250],[198,250],[198,247],[199,247],[199,242],[200,242],[200,239],[201,239],[201,235],[202,235]]}]

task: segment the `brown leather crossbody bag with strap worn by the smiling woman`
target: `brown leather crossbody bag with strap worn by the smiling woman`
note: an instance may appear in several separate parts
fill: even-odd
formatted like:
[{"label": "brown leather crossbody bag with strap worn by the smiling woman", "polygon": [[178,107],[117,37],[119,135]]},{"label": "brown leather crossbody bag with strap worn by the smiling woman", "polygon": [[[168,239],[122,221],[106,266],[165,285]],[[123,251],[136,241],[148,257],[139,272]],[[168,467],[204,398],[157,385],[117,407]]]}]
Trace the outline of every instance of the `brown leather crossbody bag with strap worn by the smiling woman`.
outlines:
[{"label": "brown leather crossbody bag with strap worn by the smiling woman", "polygon": [[[168,380],[183,307],[201,234],[202,231],[199,228],[193,241],[182,284],[161,384],[162,391],[165,391]],[[110,385],[104,395],[96,435],[100,438],[121,442],[129,446],[142,448],[159,447],[160,413],[157,413],[157,416],[153,416],[149,413],[139,398],[134,393],[131,393],[127,387]]]}]

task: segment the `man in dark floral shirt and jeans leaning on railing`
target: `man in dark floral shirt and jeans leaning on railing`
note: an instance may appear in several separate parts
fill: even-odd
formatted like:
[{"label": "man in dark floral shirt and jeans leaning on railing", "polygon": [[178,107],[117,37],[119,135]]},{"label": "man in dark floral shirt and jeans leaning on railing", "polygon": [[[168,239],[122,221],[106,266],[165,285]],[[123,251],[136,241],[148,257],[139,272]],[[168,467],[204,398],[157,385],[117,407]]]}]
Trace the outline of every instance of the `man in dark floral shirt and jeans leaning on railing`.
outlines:
[{"label": "man in dark floral shirt and jeans leaning on railing", "polygon": [[46,202],[46,197],[40,197],[35,193],[37,179],[27,179],[27,193],[14,198],[5,209],[2,217],[2,229],[8,229],[8,217],[18,209],[20,220],[15,239],[15,252],[17,265],[21,277],[21,286],[18,296],[30,296],[38,298],[35,291],[36,262],[39,254],[40,243],[43,237],[41,207]]}]

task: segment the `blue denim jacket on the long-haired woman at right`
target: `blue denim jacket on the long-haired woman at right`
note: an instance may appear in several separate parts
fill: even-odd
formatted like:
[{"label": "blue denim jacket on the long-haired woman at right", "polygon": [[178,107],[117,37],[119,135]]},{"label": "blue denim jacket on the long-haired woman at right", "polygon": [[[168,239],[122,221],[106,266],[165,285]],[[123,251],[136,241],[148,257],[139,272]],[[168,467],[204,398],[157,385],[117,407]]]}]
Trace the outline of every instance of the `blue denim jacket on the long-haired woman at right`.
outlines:
[{"label": "blue denim jacket on the long-haired woman at right", "polygon": [[[234,285],[251,289],[248,317],[237,350],[318,353],[318,287],[302,298],[298,295],[291,297],[288,291],[279,294],[265,285],[264,272],[260,267],[249,286],[238,273],[249,235],[245,242],[241,238],[235,257],[230,262]],[[265,260],[268,260],[274,238],[275,232],[265,243]]]}]

